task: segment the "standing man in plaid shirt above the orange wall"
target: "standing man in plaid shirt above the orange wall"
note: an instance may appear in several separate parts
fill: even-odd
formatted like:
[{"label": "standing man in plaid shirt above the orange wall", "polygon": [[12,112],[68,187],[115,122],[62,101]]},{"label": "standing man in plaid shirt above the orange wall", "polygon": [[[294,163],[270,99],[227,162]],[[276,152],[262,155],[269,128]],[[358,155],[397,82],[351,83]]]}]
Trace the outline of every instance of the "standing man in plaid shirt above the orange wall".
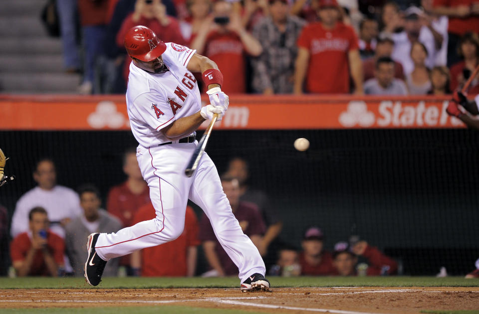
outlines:
[{"label": "standing man in plaid shirt above the orange wall", "polygon": [[270,16],[253,29],[253,36],[263,47],[260,56],[251,60],[252,86],[258,93],[290,94],[293,92],[296,40],[306,21],[290,15],[286,0],[269,0]]}]

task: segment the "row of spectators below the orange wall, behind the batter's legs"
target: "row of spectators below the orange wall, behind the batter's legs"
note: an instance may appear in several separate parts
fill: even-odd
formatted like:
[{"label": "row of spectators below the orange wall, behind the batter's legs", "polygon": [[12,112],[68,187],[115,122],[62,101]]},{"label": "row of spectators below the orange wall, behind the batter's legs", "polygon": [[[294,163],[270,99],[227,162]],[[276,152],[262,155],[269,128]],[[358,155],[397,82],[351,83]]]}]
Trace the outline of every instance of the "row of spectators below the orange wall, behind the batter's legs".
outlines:
[{"label": "row of spectators below the orange wall, behind the batter's legs", "polygon": [[[54,162],[49,158],[38,160],[33,169],[37,186],[18,199],[12,217],[9,251],[14,275],[81,277],[86,239],[90,233],[112,233],[124,226],[154,219],[156,213],[149,199],[149,189],[141,179],[132,149],[124,153],[123,171],[127,179],[110,189],[105,210],[101,207],[100,192],[94,185],[82,185],[77,191],[58,185]],[[304,231],[301,249],[284,242],[280,239],[282,221],[268,196],[249,186],[248,163],[243,158],[230,160],[221,183],[241,229],[258,248],[270,274],[355,276],[397,273],[397,263],[365,241],[339,242],[332,253],[326,251],[323,232],[317,226]],[[8,219],[3,207],[0,207],[0,218],[2,245],[7,247]],[[200,246],[203,254],[199,253]],[[2,252],[5,251],[8,249]],[[367,264],[358,264],[358,257],[364,257]],[[207,269],[199,272],[197,263],[200,259]],[[238,268],[218,242],[206,214],[197,217],[195,210],[188,206],[184,231],[176,240],[110,260],[104,275],[119,274],[216,277],[237,275]],[[6,271],[2,275],[6,275]]]}]

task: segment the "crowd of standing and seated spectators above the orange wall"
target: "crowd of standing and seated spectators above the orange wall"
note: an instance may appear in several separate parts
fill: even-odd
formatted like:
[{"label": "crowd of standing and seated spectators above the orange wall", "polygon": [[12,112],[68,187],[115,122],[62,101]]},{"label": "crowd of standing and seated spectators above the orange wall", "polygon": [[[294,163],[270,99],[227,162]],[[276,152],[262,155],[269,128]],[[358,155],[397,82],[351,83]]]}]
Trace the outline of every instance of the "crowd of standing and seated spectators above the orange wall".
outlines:
[{"label": "crowd of standing and seated spectators above the orange wall", "polygon": [[477,0],[58,0],[57,10],[81,94],[125,91],[123,38],[138,24],[215,61],[228,94],[442,95],[479,62]]}]

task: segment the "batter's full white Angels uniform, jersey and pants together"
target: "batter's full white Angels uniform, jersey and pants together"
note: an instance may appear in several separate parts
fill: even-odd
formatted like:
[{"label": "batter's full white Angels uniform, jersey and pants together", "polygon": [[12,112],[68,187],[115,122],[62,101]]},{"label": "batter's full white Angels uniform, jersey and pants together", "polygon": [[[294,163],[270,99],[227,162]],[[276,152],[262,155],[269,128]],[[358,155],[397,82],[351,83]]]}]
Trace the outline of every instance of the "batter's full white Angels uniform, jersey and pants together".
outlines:
[{"label": "batter's full white Angels uniform, jersey and pants together", "polygon": [[[210,218],[218,240],[238,266],[241,282],[254,273],[264,275],[261,256],[241,231],[213,160],[205,153],[194,175],[187,177],[185,168],[198,142],[171,141],[160,132],[176,119],[201,109],[197,81],[186,68],[195,50],[175,43],[166,45],[162,57],[169,71],[150,73],[132,62],[126,92],[131,131],[140,144],[136,157],[150,187],[156,218],[100,234],[95,252],[107,261],[176,239],[183,232],[186,205],[191,199]],[[173,143],[158,146],[165,142]]]}]

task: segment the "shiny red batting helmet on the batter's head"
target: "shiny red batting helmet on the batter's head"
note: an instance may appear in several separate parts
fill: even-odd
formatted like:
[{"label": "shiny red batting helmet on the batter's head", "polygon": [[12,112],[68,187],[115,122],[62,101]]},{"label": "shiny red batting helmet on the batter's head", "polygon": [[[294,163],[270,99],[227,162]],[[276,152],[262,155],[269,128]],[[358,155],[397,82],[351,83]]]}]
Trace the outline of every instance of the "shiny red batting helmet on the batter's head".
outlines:
[{"label": "shiny red batting helmet on the batter's head", "polygon": [[130,57],[141,61],[152,61],[165,52],[166,45],[153,30],[137,25],[126,32],[125,48]]}]

